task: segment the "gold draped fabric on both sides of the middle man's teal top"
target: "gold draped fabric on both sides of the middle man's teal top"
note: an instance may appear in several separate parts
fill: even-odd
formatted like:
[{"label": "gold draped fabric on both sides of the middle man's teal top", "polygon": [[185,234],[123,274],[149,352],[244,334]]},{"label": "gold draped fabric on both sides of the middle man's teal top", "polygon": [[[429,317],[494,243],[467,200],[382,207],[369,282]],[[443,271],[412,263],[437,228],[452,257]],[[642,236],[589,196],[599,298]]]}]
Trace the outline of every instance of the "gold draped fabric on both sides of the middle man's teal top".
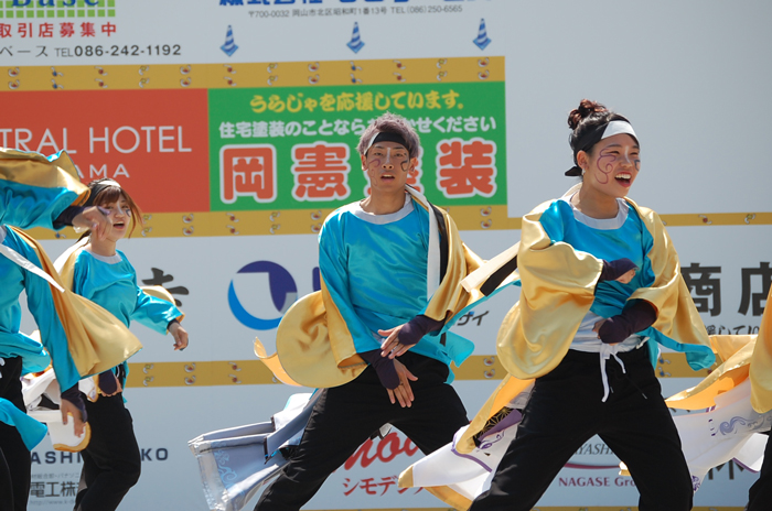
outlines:
[{"label": "gold draped fabric on both sides of the middle man's teal top", "polygon": [[[433,215],[420,200],[415,204]],[[423,314],[443,320],[471,303],[472,295],[463,290],[461,281],[482,260],[461,242],[453,219],[439,211],[448,235],[448,269]],[[323,279],[321,291],[303,296],[285,314],[276,333],[276,354],[268,356],[256,338],[255,355],[278,380],[311,388],[342,385],[367,367],[356,354],[354,339]]]}]

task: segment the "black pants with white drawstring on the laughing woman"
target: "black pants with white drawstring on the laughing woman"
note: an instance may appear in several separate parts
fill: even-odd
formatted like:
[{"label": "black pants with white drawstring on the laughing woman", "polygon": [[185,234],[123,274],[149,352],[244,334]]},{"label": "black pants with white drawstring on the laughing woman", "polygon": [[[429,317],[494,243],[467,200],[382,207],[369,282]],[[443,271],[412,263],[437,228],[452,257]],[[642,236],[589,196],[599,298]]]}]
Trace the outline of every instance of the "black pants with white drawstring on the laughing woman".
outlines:
[{"label": "black pants with white drawstring on the laughing woman", "polygon": [[[671,412],[645,348],[611,358],[603,387],[598,354],[569,350],[538,378],[517,435],[501,460],[491,489],[470,511],[528,511],[573,453],[593,435],[624,461],[641,494],[641,511],[691,509],[691,477]],[[645,395],[645,398],[644,398]]]}]

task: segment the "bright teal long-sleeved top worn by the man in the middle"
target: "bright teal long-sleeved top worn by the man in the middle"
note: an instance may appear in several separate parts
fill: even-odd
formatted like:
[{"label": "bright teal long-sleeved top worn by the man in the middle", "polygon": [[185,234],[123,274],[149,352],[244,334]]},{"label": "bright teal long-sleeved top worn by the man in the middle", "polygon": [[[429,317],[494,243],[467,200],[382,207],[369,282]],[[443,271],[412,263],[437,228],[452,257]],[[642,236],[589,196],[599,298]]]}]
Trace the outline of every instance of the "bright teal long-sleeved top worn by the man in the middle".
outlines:
[{"label": "bright teal long-sleeved top worn by the man in the middle", "polygon": [[[390,215],[365,213],[358,203],[335,210],[319,235],[319,269],[357,352],[378,349],[379,329],[409,322],[426,311],[429,214],[410,198]],[[474,349],[449,334],[435,334],[411,351],[460,366]],[[451,377],[452,378],[452,377]]]}]

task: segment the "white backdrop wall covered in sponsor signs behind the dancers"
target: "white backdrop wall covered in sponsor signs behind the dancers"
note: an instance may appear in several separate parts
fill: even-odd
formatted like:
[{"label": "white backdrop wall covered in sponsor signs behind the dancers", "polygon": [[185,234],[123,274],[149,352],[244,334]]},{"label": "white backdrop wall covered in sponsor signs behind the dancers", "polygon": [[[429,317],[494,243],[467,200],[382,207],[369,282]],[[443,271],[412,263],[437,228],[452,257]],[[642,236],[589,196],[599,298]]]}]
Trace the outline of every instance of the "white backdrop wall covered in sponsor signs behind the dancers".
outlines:
[{"label": "white backdrop wall covered in sponsor signs behind the dancers", "polygon": [[[126,396],[143,474],[120,509],[205,510],[186,442],[307,391],[276,383],[253,341],[272,351],[282,314],[319,287],[315,233],[367,193],[354,148],[383,111],[421,135],[414,184],[491,258],[573,184],[567,112],[585,97],[618,109],[642,144],[631,196],[666,221],[708,330],[758,331],[772,282],[770,19],[772,4],[750,0],[0,2],[2,145],[66,149],[84,182],[118,180],[144,210],[119,249],[186,313],[183,354],[132,325],[144,349]],[[52,258],[75,236],[33,235]],[[503,376],[495,335],[516,300],[507,290],[455,327],[476,345],[454,383],[470,415]],[[673,354],[656,371],[665,394],[704,376]],[[396,485],[419,455],[400,433],[365,444],[308,509],[441,509]],[[634,508],[616,463],[590,439],[540,509]],[[44,441],[30,508],[71,509],[79,469]],[[726,464],[695,503],[740,509],[754,479]]]}]

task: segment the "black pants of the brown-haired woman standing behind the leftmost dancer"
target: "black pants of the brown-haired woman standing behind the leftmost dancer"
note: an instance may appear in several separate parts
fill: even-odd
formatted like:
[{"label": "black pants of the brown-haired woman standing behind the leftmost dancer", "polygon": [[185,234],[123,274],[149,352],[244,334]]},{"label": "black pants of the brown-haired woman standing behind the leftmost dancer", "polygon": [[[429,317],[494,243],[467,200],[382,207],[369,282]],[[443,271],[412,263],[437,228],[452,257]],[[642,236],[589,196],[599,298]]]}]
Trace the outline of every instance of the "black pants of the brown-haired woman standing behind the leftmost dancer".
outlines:
[{"label": "black pants of the brown-haired woman standing behind the leftmost dancer", "polygon": [[76,511],[112,511],[139,480],[141,458],[124,394],[86,402],[92,439],[81,452],[83,470]]}]

